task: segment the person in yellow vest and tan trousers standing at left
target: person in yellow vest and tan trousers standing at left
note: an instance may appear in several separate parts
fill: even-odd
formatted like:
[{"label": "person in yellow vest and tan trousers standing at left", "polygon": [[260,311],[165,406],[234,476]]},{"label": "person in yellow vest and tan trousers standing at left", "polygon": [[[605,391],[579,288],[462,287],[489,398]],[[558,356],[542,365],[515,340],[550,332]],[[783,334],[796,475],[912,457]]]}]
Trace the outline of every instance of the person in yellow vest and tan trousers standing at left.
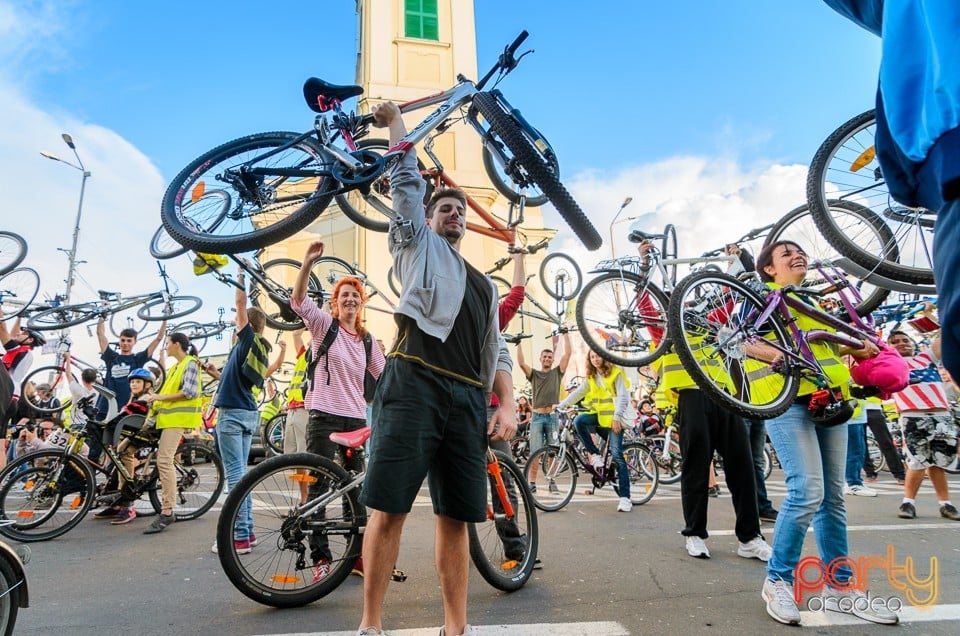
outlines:
[{"label": "person in yellow vest and tan trousers standing at left", "polygon": [[144,396],[150,404],[150,414],[145,426],[154,426],[160,434],[157,448],[157,471],[160,473],[162,509],[153,523],[143,531],[156,534],[166,530],[176,521],[173,506],[177,496],[177,473],[173,468],[173,456],[184,433],[200,428],[200,362],[197,350],[190,339],[182,333],[167,336],[164,347],[167,360],[176,363],[167,370],[167,379],[157,393]]}]

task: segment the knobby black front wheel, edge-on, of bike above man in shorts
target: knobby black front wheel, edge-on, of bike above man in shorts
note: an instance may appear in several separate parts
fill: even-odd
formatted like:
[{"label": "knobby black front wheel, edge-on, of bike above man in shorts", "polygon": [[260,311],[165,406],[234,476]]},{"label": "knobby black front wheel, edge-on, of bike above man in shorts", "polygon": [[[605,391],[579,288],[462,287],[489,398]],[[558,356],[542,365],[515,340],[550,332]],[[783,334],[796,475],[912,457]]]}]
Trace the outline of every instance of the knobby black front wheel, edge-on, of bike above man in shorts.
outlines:
[{"label": "knobby black front wheel, edge-on, of bike above man in shorts", "polygon": [[553,167],[530,142],[513,117],[504,112],[497,98],[491,93],[477,93],[473,96],[473,104],[487,121],[493,134],[499,136],[507,150],[513,153],[514,160],[529,175],[530,182],[540,187],[584,246],[592,251],[603,245],[600,233],[560,183]]}]

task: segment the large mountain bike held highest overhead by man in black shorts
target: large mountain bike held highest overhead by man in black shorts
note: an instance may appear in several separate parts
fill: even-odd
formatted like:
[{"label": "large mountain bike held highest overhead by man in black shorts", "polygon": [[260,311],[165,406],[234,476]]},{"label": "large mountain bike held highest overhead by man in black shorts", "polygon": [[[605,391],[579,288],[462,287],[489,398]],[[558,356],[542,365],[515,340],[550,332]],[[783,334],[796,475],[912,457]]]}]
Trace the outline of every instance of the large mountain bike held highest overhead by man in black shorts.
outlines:
[{"label": "large mountain bike held highest overhead by man in black shorts", "polygon": [[[211,150],[174,177],[163,197],[161,214],[167,233],[198,252],[249,252],[281,241],[309,225],[335,196],[359,190],[377,196],[389,190],[383,176],[411,148],[435,131],[464,121],[523,194],[542,192],[589,249],[602,244],[600,234],[560,183],[556,157],[536,129],[529,126],[494,87],[519,63],[515,56],[524,31],[478,82],[457,77],[450,89],[400,105],[402,112],[437,106],[385,153],[360,148],[374,121],[372,115],[344,112],[341,103],[358,97],[360,86],[340,86],[317,78],[304,84],[307,105],[318,113],[304,133],[270,132],[243,137]],[[495,182],[496,184],[496,182]],[[502,185],[502,184],[501,184]],[[208,191],[226,193],[206,200]],[[524,195],[525,198],[525,195]],[[348,208],[343,208],[349,214]],[[393,217],[389,209],[382,223]],[[356,222],[359,222],[356,218]]]}]

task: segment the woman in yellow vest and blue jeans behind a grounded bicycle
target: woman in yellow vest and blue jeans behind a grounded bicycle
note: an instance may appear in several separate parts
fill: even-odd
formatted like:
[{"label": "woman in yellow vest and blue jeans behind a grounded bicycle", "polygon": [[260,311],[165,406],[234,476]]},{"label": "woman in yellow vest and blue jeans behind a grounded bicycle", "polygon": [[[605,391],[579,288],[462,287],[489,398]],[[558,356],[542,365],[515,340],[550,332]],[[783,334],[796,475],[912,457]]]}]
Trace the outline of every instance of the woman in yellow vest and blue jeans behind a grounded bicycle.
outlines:
[{"label": "woman in yellow vest and blue jeans behind a grounded bicycle", "polygon": [[558,404],[557,410],[576,404],[581,399],[587,411],[573,421],[577,436],[590,454],[594,468],[603,466],[603,458],[600,449],[593,442],[593,434],[607,440],[610,455],[617,463],[620,493],[617,511],[630,512],[633,508],[630,501],[630,472],[623,457],[623,430],[632,423],[630,409],[627,408],[630,404],[630,382],[623,369],[607,362],[591,350],[587,354],[587,381],[581,383]]}]

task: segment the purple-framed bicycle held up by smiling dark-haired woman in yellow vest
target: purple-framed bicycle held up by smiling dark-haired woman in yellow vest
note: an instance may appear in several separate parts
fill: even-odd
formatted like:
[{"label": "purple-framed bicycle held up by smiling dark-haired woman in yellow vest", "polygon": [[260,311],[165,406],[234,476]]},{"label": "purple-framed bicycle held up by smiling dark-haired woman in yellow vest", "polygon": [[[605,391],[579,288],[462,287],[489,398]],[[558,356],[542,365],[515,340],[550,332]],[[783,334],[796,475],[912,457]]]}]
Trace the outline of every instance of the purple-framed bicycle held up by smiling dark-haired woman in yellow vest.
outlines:
[{"label": "purple-framed bicycle held up by smiling dark-haired woman in yellow vest", "polygon": [[[879,341],[872,319],[857,313],[862,297],[843,272],[829,263],[814,263],[814,268],[829,289],[793,285],[770,289],[759,280],[744,281],[712,271],[696,272],[680,282],[670,299],[668,316],[673,346],[708,398],[742,417],[770,419],[794,403],[801,375],[817,386],[825,384],[808,343],[859,348],[862,342]],[[800,299],[827,292],[839,297],[841,317]],[[791,310],[836,332],[803,331]],[[776,357],[775,362],[767,359]],[[825,385],[821,390],[829,393]],[[833,402],[828,408],[841,404]]]}]

